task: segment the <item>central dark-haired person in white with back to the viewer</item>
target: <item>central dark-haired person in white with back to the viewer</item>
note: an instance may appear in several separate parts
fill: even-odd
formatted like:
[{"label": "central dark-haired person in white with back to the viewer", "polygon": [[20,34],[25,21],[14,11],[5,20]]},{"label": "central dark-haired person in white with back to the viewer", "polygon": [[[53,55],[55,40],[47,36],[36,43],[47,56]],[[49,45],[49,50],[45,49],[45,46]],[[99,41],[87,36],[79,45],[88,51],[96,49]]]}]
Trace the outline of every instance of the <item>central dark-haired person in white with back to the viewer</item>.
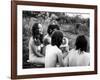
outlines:
[{"label": "central dark-haired person in white with back to the viewer", "polygon": [[51,44],[46,47],[45,54],[45,67],[57,67],[63,65],[63,55],[60,50],[60,45],[62,43],[63,33],[59,30],[56,30],[52,33]]}]

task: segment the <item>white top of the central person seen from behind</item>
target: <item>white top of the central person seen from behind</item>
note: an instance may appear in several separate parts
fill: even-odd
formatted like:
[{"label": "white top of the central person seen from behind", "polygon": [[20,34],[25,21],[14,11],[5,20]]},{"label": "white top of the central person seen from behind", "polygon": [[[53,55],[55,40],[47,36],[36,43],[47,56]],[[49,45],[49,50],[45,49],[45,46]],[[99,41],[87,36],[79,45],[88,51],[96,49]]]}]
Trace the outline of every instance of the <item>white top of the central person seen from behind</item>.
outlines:
[{"label": "white top of the central person seen from behind", "polygon": [[63,56],[57,46],[47,45],[45,55],[45,67],[56,67],[57,63],[63,66]]}]

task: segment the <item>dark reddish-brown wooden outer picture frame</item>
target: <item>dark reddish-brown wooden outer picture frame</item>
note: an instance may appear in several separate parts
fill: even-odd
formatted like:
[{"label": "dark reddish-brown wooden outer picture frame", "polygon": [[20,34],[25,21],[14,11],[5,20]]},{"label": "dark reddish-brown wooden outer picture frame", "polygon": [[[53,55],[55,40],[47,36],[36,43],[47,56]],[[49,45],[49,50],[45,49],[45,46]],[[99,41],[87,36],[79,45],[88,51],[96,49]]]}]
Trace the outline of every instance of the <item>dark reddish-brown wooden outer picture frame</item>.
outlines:
[{"label": "dark reddish-brown wooden outer picture frame", "polygon": [[[94,71],[17,75],[17,5],[93,9],[94,48],[95,48]],[[12,79],[59,77],[59,76],[90,75],[90,74],[97,74],[97,6],[96,5],[48,3],[48,2],[33,2],[33,1],[11,1],[11,78]]]}]

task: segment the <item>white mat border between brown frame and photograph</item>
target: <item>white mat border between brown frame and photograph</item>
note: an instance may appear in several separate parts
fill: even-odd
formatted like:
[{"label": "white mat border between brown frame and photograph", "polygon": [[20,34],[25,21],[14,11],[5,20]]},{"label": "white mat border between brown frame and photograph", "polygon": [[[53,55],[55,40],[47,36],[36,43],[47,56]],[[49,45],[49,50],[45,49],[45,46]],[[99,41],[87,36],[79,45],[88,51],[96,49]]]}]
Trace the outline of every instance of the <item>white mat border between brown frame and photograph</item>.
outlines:
[{"label": "white mat border between brown frame and photograph", "polygon": [[[90,14],[90,66],[22,69],[22,11],[79,12]],[[46,6],[17,5],[17,75],[94,71],[94,10]]]}]

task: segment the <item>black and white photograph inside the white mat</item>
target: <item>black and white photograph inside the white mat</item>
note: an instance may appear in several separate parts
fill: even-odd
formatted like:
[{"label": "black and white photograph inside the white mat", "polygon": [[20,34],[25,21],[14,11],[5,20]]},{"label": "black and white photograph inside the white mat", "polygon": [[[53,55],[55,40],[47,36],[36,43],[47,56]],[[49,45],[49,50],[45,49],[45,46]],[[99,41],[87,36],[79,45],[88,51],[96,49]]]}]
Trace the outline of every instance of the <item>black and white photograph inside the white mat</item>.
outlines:
[{"label": "black and white photograph inside the white mat", "polygon": [[23,11],[23,68],[90,66],[90,14]]}]

